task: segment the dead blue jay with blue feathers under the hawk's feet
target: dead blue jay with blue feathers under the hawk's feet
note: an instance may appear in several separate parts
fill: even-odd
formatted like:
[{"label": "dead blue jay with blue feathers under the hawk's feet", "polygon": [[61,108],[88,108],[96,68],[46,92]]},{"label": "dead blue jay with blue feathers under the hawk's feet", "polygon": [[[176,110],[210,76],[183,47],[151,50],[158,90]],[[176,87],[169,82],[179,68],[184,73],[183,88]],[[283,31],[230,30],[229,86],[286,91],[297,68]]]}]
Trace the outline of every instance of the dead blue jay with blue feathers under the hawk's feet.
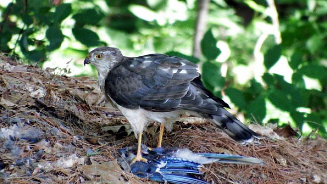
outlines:
[{"label": "dead blue jay with blue feathers under the hawk's feet", "polygon": [[[135,162],[137,147],[119,150],[117,161],[126,172],[140,178],[148,178],[155,182],[171,184],[208,184],[200,179],[204,164],[255,164],[263,165],[263,161],[253,157],[226,155],[218,153],[193,153],[187,148],[154,148],[141,145],[142,157],[148,162]],[[130,165],[131,164],[131,165]]]}]

